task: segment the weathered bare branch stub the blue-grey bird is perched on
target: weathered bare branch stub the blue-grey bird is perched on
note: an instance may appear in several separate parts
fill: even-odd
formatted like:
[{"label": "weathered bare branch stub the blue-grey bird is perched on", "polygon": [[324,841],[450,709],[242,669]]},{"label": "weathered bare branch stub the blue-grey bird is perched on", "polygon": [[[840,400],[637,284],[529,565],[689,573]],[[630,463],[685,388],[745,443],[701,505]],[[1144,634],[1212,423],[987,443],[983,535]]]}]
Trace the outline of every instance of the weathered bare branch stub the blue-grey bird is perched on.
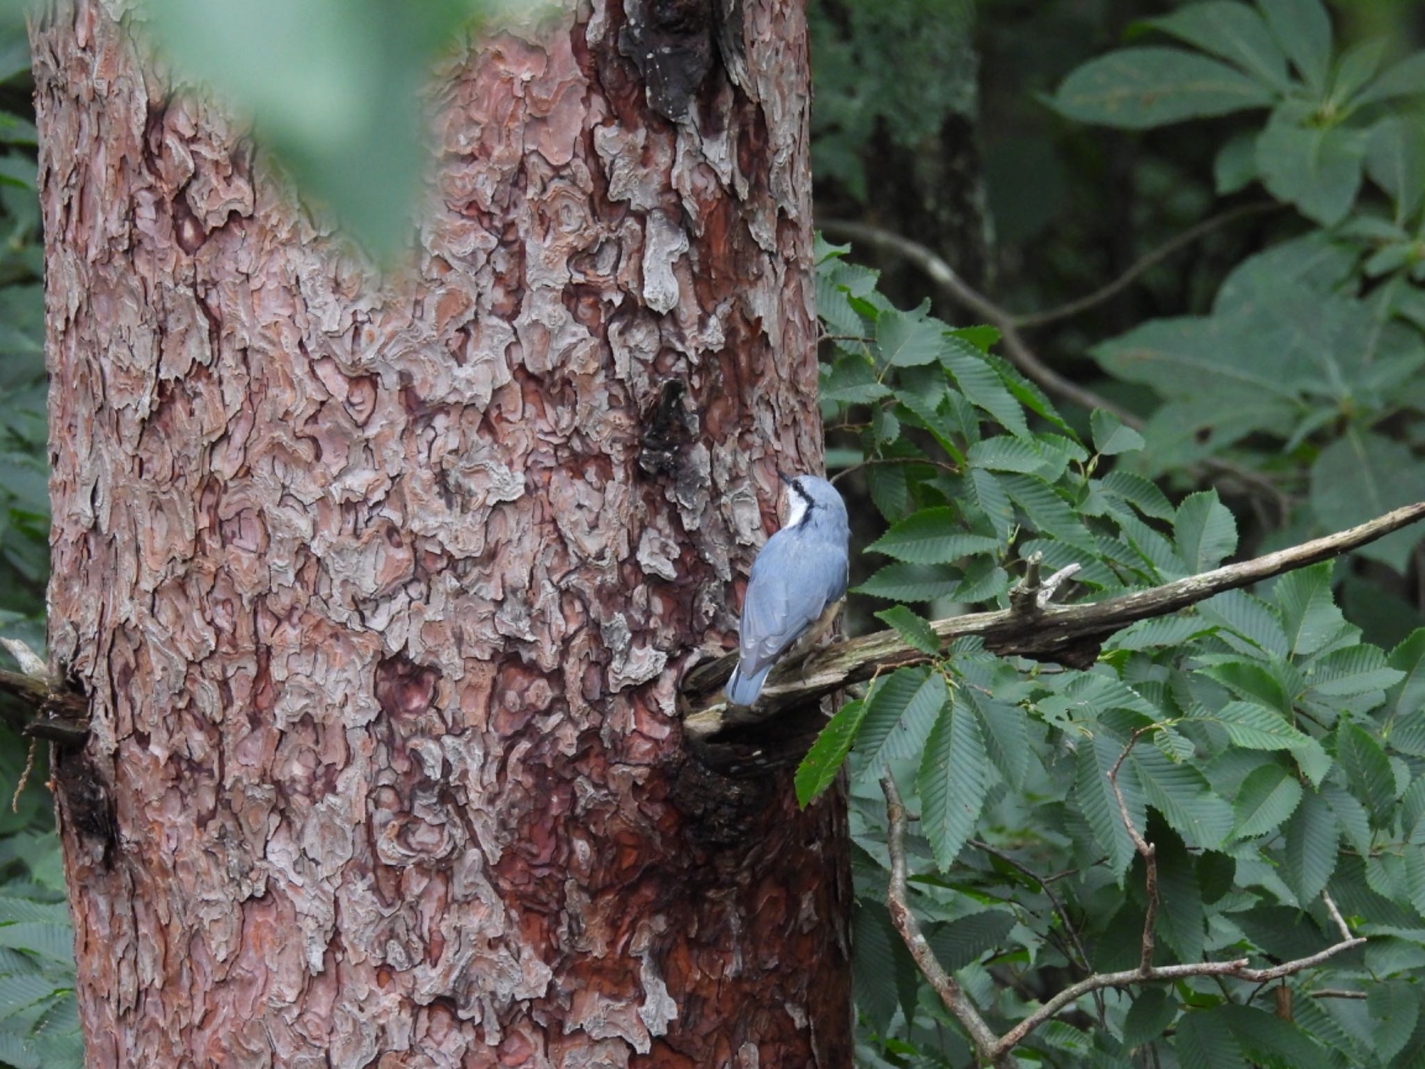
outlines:
[{"label": "weathered bare branch stub the blue-grey bird is perched on", "polygon": [[[1395,509],[1322,539],[1106,601],[1043,606],[1032,613],[1015,609],[970,613],[936,620],[931,627],[942,649],[960,636],[979,634],[995,653],[1087,667],[1097,659],[1103,640],[1131,623],[1168,616],[1226,590],[1237,590],[1282,572],[1328,560],[1422,517],[1425,502]],[[690,735],[708,738],[727,727],[757,724],[785,710],[807,706],[848,684],[869,680],[878,671],[929,660],[933,659],[908,646],[892,630],[836,643],[814,653],[804,667],[779,666],[762,690],[757,708],[742,711],[734,720],[721,694],[721,687],[737,663],[735,654],[730,654],[700,664],[688,673],[683,683],[684,727]]]}]

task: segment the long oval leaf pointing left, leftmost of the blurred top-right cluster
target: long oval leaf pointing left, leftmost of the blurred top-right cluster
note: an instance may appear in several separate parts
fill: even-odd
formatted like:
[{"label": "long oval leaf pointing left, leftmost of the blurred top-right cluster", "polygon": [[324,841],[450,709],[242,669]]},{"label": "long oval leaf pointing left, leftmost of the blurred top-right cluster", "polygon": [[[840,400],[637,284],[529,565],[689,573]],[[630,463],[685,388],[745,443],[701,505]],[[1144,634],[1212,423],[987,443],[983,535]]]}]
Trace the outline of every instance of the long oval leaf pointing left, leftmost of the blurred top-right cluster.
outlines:
[{"label": "long oval leaf pointing left, leftmost of the blurred top-right cluster", "polygon": [[1120,48],[1073,70],[1052,104],[1080,123],[1126,130],[1265,107],[1273,94],[1226,63],[1180,48]]}]

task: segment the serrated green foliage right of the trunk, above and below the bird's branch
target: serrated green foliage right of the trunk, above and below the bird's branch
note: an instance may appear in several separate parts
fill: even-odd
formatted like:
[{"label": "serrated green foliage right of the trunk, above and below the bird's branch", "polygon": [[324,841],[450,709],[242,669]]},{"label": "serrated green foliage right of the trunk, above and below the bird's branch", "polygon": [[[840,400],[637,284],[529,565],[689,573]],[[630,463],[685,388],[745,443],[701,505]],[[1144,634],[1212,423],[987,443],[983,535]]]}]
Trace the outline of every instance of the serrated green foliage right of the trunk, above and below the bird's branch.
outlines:
[{"label": "serrated green foliage right of the trunk, above and below the bird's branch", "polygon": [[[1006,606],[1030,553],[1054,567],[1079,563],[1070,596],[1090,599],[1237,553],[1237,525],[1216,492],[1173,505],[1131,470],[1151,436],[1096,412],[1086,443],[995,356],[992,331],[893,308],[846,252],[818,249],[818,299],[834,335],[822,406],[875,460],[859,475],[885,533],[868,554],[889,563],[858,593],[892,601],[878,616],[909,644],[933,641],[913,604]],[[1134,624],[1086,671],[1015,663],[962,639],[931,666],[881,676],[798,775],[807,802],[841,761],[851,774],[864,1058],[969,1056],[886,931],[879,777],[892,774],[919,817],[908,852],[928,938],[1005,1031],[1064,978],[1137,964],[1144,869],[1109,780],[1116,765],[1129,815],[1157,848],[1156,964],[1264,965],[1324,949],[1338,938],[1327,889],[1369,942],[1284,981],[1305,1008],[1290,1022],[1253,985],[1190,978],[1110,989],[1102,1005],[1084,996],[1030,1033],[1022,1058],[1127,1066],[1153,1048],[1216,1069],[1425,1055],[1412,982],[1425,961],[1422,674],[1425,629],[1389,651],[1364,641],[1322,563]],[[1062,909],[1040,882],[1050,877]],[[1381,983],[1388,995],[1375,993]],[[1341,988],[1371,1001],[1312,998]]]}]

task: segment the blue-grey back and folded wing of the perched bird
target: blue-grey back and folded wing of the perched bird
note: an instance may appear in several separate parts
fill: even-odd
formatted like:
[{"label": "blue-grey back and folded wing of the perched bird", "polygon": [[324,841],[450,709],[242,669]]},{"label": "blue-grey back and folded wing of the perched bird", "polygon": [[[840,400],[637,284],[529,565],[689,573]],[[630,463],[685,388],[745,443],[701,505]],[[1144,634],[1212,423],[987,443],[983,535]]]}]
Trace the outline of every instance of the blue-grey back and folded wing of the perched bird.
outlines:
[{"label": "blue-grey back and folded wing of the perched bird", "polygon": [[777,532],[752,562],[738,656],[751,670],[777,660],[845,590],[846,562]]}]

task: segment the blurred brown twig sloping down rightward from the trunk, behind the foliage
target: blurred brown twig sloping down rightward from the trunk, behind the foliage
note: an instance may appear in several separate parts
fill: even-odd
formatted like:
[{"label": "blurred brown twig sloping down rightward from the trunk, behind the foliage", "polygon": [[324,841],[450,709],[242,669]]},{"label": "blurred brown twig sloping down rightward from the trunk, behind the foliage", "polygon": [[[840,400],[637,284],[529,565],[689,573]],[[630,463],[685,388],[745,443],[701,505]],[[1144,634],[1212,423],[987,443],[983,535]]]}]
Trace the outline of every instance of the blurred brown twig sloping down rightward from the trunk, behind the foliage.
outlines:
[{"label": "blurred brown twig sloping down rightward from the trunk, behind the foliage", "polygon": [[[874,245],[882,251],[892,252],[918,267],[932,282],[939,285],[952,301],[993,324],[999,329],[1000,339],[1005,342],[1005,353],[1009,356],[1009,362],[1050,393],[1087,409],[1099,408],[1104,412],[1112,412],[1134,430],[1143,429],[1143,419],[1139,418],[1137,413],[1114,403],[1102,393],[1096,393],[1094,391],[1064,378],[1039,359],[1035,351],[1029,348],[1019,334],[1019,318],[996,305],[983,294],[978,292],[955,272],[955,268],[952,268],[943,257],[939,257],[935,251],[926,248],[918,241],[911,241],[906,237],[895,234],[893,231],[888,231],[882,227],[872,227],[865,222],[828,220],[822,224],[822,228],[831,232],[842,234],[852,241],[861,241],[866,245]],[[1285,495],[1275,483],[1271,482],[1271,479],[1265,477],[1260,472],[1241,468],[1230,460],[1223,460],[1214,456],[1204,458],[1200,463],[1207,470],[1218,472],[1235,479],[1243,487],[1251,490],[1253,493],[1270,496],[1277,506],[1278,515],[1287,515]]]}]

